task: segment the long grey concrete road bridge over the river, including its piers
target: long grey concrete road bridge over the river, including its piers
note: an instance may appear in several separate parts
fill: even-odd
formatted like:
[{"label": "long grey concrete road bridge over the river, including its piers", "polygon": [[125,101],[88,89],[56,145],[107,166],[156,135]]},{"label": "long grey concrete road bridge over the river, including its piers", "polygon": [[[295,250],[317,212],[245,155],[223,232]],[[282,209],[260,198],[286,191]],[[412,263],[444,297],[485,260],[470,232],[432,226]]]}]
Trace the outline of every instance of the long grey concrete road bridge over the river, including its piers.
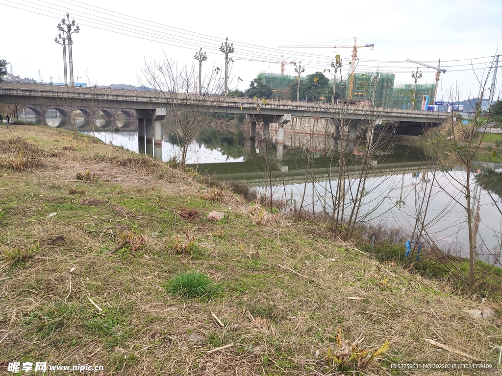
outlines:
[{"label": "long grey concrete road bridge over the river, including its piers", "polygon": [[292,117],[326,119],[333,138],[338,137],[340,131],[352,137],[357,127],[382,122],[422,128],[436,126],[446,119],[445,114],[419,110],[50,84],[1,83],[0,103],[30,108],[38,118],[45,118],[51,108],[62,116],[78,109],[84,116],[101,111],[111,118],[120,111],[127,117],[138,119],[140,143],[141,135],[145,134],[147,147],[152,137],[155,142],[161,142],[161,120],[166,116],[166,109],[197,107],[199,111],[206,108],[216,113],[245,114],[250,122],[249,138],[252,140],[256,137],[257,123],[263,123],[265,138],[269,137],[270,124],[278,124],[276,143],[279,145],[284,140],[284,125]]}]

